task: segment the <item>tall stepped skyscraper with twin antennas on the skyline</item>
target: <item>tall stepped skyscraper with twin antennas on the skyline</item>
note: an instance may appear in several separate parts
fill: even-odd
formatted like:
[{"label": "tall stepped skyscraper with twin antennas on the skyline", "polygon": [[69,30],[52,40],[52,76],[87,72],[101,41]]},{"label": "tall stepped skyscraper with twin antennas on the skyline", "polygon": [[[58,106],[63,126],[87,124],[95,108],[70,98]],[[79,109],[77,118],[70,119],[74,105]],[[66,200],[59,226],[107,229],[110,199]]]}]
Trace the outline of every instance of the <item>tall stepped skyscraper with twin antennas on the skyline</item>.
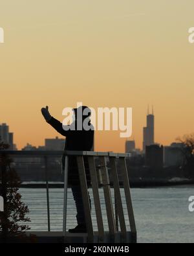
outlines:
[{"label": "tall stepped skyscraper with twin antennas on the skyline", "polygon": [[143,152],[146,150],[146,146],[155,144],[155,116],[153,113],[149,113],[149,106],[147,108],[147,124],[143,128]]}]

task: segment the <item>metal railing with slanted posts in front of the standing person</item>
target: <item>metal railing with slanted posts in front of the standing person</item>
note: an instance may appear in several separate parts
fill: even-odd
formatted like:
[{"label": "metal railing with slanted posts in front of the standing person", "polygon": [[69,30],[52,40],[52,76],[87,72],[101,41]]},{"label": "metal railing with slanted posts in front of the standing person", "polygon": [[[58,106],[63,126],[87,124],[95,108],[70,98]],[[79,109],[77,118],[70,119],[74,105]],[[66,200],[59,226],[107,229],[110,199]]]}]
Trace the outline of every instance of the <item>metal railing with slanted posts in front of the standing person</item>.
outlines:
[{"label": "metal railing with slanted posts in front of the standing person", "polygon": [[[75,156],[78,163],[78,172],[81,183],[81,194],[83,198],[83,206],[85,212],[85,218],[87,219],[87,241],[92,242],[94,240],[94,229],[92,224],[91,207],[89,204],[88,186],[85,175],[85,165],[83,157],[87,157],[89,163],[89,173],[91,176],[91,187],[94,200],[94,208],[96,214],[96,222],[98,227],[98,240],[103,242],[105,240],[105,228],[103,223],[102,204],[100,202],[99,194],[99,177],[102,179],[102,188],[105,200],[105,209],[107,213],[107,222],[109,227],[109,237],[111,242],[116,241],[118,229],[120,227],[120,234],[122,240],[125,241],[127,237],[127,230],[124,207],[122,202],[122,196],[120,193],[120,182],[118,180],[118,165],[120,166],[120,175],[123,178],[123,189],[125,193],[125,205],[127,207],[127,215],[130,225],[131,241],[136,242],[136,226],[135,218],[133,214],[133,206],[131,201],[131,192],[129,187],[129,178],[127,173],[127,167],[125,157],[129,157],[129,154],[120,154],[113,152],[91,152],[91,151],[0,151],[3,154],[8,154],[10,157],[41,157],[44,159],[45,165],[45,182],[47,191],[47,225],[48,231],[50,231],[50,200],[49,200],[49,182],[48,182],[48,157],[61,157],[65,156],[65,170],[64,170],[64,194],[63,194],[63,235],[67,235],[67,189],[68,189],[68,159],[69,156]],[[100,165],[96,168],[95,157],[100,160]],[[107,167],[107,161],[109,162],[109,169]],[[99,172],[99,173],[98,173]],[[111,177],[110,177],[111,176]],[[114,202],[113,196],[111,196],[111,184],[110,178],[113,182],[114,189]],[[113,205],[114,204],[114,205]],[[114,206],[114,207],[113,207]]]}]

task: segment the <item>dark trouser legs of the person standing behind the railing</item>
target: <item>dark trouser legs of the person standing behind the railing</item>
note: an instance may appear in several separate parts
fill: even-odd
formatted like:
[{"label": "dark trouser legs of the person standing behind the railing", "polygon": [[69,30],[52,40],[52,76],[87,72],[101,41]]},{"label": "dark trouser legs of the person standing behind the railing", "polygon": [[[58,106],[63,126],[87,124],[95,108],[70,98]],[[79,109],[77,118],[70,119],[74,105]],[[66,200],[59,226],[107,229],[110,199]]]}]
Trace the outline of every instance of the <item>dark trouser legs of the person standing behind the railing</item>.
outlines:
[{"label": "dark trouser legs of the person standing behind the railing", "polygon": [[[85,222],[85,215],[84,215],[84,209],[83,209],[83,199],[81,195],[81,188],[79,185],[74,185],[71,187],[72,194],[74,197],[74,201],[76,203],[76,209],[77,209],[77,215],[76,219],[78,222],[78,226],[85,227],[86,228],[86,222]],[[89,195],[89,193],[88,193]],[[89,202],[91,206],[91,199],[89,196]]]}]

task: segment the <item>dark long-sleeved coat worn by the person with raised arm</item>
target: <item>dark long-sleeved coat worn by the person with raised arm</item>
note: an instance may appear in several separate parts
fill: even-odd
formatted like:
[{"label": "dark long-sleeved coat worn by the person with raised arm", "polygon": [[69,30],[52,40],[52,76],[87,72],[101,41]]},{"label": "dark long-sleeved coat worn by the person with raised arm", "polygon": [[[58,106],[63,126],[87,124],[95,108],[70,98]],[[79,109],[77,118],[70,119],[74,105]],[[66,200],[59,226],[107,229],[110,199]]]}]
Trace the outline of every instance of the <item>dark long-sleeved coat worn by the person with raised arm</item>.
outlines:
[{"label": "dark long-sleeved coat worn by the person with raised arm", "polygon": [[[57,119],[52,117],[47,121],[59,134],[66,137],[64,150],[76,150],[76,151],[91,151],[94,143],[94,129],[86,130],[64,130],[63,124]],[[87,184],[90,184],[89,167],[87,163],[87,158],[83,157],[85,163],[85,174],[87,177]],[[63,157],[63,166],[65,157]],[[68,184],[69,185],[80,185],[78,165],[76,161],[76,156],[69,156],[68,165]]]}]

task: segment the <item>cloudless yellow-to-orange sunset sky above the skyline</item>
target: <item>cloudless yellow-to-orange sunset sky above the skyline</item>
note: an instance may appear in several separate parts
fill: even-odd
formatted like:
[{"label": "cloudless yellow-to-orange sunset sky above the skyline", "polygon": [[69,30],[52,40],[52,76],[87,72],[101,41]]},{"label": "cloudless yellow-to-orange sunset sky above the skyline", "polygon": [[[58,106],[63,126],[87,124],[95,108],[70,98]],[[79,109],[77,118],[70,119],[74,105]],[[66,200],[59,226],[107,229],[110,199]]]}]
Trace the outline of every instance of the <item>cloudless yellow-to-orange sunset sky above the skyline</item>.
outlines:
[{"label": "cloudless yellow-to-orange sunset sky above the skyline", "polygon": [[[1,0],[0,123],[20,149],[55,132],[40,109],[63,120],[76,102],[132,107],[142,148],[147,104],[155,141],[169,145],[194,132],[193,0]],[[61,137],[61,136],[59,136]],[[119,132],[96,132],[95,150],[123,152]]]}]

